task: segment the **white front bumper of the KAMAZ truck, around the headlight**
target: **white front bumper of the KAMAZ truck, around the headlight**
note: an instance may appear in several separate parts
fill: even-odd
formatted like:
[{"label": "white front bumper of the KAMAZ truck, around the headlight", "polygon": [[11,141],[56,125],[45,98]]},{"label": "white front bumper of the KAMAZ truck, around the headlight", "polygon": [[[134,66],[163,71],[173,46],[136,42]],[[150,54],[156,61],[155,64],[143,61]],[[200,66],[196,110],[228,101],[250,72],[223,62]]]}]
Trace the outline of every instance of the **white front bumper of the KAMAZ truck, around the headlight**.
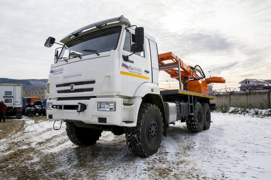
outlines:
[{"label": "white front bumper of the KAMAZ truck, around the headlight", "polygon": [[[123,101],[125,103],[123,103]],[[47,109],[46,115],[47,119],[56,121],[72,120],[74,122],[78,121],[87,124],[134,127],[136,126],[137,112],[141,101],[141,99],[123,98],[91,98],[90,100],[70,101],[50,99],[47,100],[47,103],[62,105],[62,109]],[[98,102],[115,102],[116,111],[98,111]],[[78,105],[78,103],[85,104],[86,110],[77,112],[77,110],[68,110],[65,108],[65,106]]]}]

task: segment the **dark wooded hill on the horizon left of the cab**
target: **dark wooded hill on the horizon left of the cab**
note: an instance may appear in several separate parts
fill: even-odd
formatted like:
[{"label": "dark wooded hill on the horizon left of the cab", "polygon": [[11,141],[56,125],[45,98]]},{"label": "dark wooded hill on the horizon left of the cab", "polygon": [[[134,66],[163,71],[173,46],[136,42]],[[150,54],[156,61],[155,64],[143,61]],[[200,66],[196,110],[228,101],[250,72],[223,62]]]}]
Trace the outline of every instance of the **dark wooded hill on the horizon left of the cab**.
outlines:
[{"label": "dark wooded hill on the horizon left of the cab", "polygon": [[8,83],[8,84],[23,84],[23,90],[26,89],[39,89],[46,88],[46,83],[48,79],[8,79],[8,78],[0,78],[0,83]]}]

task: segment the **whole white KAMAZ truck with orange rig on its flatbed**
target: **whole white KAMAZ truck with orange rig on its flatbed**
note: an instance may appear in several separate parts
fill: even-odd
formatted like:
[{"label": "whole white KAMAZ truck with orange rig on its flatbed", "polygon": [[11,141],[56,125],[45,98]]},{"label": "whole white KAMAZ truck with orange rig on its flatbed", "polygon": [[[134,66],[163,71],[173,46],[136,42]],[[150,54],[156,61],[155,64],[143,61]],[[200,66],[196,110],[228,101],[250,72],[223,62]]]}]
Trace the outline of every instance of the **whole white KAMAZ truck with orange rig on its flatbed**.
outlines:
[{"label": "whole white KAMAZ truck with orange rig on its flatbed", "polygon": [[[188,66],[172,52],[158,55],[143,27],[120,16],[84,26],[60,42],[48,76],[47,118],[66,122],[74,144],[93,145],[111,131],[125,134],[132,153],[148,157],[176,121],[186,122],[192,133],[210,128],[209,100],[216,97],[207,85],[225,79],[205,78],[200,66]],[[49,37],[45,46],[54,43]],[[161,70],[179,81],[179,89],[160,91]]]}]

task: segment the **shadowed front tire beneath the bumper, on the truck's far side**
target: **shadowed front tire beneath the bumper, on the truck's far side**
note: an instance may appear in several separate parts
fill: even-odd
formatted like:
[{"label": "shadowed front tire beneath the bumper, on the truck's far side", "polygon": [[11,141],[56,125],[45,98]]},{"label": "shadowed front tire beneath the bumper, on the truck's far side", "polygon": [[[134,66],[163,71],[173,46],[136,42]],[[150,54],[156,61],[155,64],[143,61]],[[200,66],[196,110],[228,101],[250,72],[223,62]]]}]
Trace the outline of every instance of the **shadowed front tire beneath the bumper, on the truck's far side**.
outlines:
[{"label": "shadowed front tire beneath the bumper, on the truck's far side", "polygon": [[100,129],[79,128],[71,122],[66,122],[66,131],[70,141],[77,146],[95,144],[103,132]]}]

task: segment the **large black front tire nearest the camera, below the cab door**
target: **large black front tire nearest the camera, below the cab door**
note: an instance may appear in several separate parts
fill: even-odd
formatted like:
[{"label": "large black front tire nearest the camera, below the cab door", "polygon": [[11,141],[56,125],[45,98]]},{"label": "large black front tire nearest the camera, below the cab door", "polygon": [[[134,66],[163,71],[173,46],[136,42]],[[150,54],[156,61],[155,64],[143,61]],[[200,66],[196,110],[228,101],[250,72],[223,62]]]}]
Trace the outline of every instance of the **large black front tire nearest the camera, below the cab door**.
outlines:
[{"label": "large black front tire nearest the camera, below the cab door", "polygon": [[155,154],[163,137],[163,118],[153,104],[141,104],[136,127],[126,127],[128,149],[135,155],[148,157]]}]

